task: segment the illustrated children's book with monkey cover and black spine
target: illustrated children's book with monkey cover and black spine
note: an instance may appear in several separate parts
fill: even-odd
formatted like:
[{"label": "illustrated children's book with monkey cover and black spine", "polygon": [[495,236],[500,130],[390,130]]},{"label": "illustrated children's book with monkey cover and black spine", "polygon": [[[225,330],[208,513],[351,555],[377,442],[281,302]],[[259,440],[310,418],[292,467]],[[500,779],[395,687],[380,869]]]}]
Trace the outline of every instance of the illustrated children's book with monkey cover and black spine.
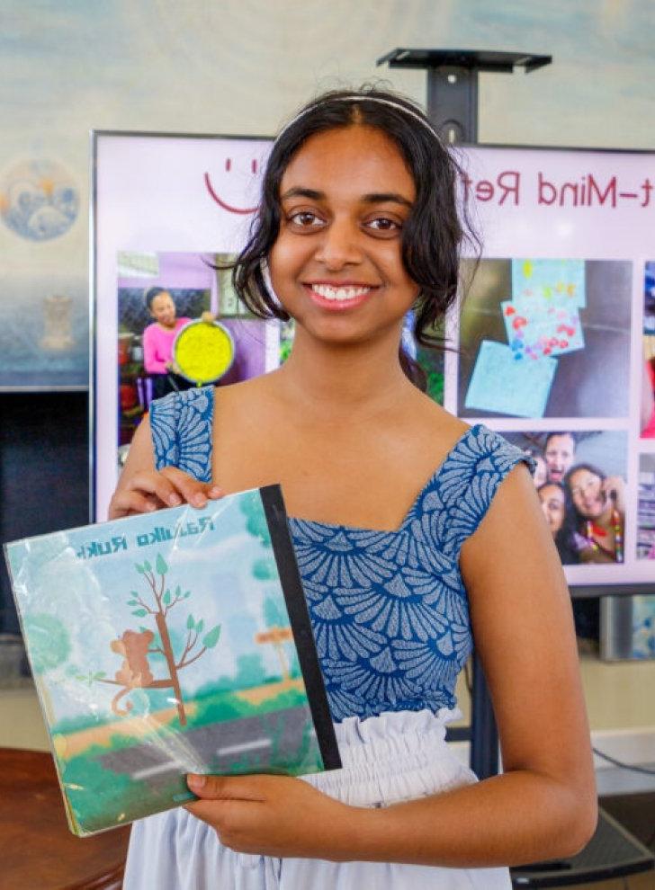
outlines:
[{"label": "illustrated children's book with monkey cover and black spine", "polygon": [[75,834],[193,800],[188,772],[340,767],[278,485],[5,553]]}]

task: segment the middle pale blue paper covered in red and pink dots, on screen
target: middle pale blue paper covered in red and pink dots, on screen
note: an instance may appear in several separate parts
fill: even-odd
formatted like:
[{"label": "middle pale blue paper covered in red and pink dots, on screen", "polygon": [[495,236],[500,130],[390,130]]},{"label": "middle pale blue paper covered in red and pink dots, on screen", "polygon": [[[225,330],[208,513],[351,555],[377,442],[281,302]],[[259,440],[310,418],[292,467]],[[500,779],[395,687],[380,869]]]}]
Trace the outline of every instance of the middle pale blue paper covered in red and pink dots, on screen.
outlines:
[{"label": "middle pale blue paper covered in red and pink dots, on screen", "polygon": [[556,305],[527,306],[504,300],[500,307],[507,331],[507,343],[516,359],[538,359],[543,355],[564,355],[584,349],[582,322],[578,309]]}]

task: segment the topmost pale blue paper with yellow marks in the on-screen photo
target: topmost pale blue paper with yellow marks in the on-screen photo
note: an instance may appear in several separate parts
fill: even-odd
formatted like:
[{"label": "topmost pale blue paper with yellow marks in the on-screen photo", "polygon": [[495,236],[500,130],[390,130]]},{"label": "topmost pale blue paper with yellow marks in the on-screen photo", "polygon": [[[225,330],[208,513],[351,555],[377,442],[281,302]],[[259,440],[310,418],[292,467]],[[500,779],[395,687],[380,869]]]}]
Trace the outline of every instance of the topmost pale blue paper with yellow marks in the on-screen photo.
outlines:
[{"label": "topmost pale blue paper with yellow marks in the on-screen photo", "polygon": [[512,297],[517,304],[587,306],[584,260],[512,260]]}]

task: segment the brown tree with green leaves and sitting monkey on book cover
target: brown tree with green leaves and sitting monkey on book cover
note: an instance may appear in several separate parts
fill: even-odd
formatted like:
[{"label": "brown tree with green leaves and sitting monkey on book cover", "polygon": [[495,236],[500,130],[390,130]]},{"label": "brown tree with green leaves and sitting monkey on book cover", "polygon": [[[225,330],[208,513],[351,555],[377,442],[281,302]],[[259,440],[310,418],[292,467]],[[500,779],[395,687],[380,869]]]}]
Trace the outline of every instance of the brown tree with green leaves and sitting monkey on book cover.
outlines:
[{"label": "brown tree with green leaves and sitting monkey on book cover", "polygon": [[[184,648],[180,653],[175,654],[168,631],[168,615],[171,610],[175,609],[175,606],[189,599],[191,591],[183,592],[179,584],[175,587],[175,591],[166,587],[168,565],[161,554],[157,554],[154,569],[147,559],[143,563],[137,563],[136,569],[148,585],[148,595],[131,591],[130,600],[127,603],[129,606],[136,607],[132,611],[132,615],[137,618],[143,619],[152,616],[157,627],[157,636],[147,627],[140,627],[139,632],[126,630],[119,640],[112,640],[112,651],[120,653],[124,659],[121,670],[116,673],[115,680],[105,680],[101,677],[98,677],[97,680],[123,687],[124,691],[116,696],[114,702],[131,689],[173,689],[177,703],[177,715],[180,725],[184,726],[186,713],[179,672],[193,662],[197,662],[208,649],[213,649],[219,642],[220,624],[212,627],[202,636],[204,621],[202,619],[196,621],[192,613],[189,612],[186,619]],[[151,646],[151,643],[154,645]],[[197,648],[198,646],[200,648]],[[160,680],[153,677],[149,670],[148,654],[164,656],[168,677]],[[126,708],[130,710],[131,704],[128,703]],[[113,710],[117,714],[126,713],[126,711],[119,711],[116,707],[113,707]]]}]

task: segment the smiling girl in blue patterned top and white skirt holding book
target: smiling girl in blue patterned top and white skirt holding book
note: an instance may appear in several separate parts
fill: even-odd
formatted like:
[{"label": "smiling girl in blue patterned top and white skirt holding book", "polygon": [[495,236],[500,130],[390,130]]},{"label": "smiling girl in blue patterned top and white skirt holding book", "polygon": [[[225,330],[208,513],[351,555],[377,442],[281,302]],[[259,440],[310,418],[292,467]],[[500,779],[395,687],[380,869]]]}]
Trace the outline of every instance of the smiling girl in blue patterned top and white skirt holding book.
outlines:
[{"label": "smiling girl in blue patterned top and white skirt holding book", "polygon": [[[570,599],[525,455],[412,384],[455,299],[458,168],[411,102],[327,93],[276,140],[235,285],[292,316],[284,365],[169,396],[113,518],[281,482],[344,769],[189,777],[136,823],[125,887],[510,887],[579,850],[596,802]],[[471,633],[504,774],[444,743]]]}]

